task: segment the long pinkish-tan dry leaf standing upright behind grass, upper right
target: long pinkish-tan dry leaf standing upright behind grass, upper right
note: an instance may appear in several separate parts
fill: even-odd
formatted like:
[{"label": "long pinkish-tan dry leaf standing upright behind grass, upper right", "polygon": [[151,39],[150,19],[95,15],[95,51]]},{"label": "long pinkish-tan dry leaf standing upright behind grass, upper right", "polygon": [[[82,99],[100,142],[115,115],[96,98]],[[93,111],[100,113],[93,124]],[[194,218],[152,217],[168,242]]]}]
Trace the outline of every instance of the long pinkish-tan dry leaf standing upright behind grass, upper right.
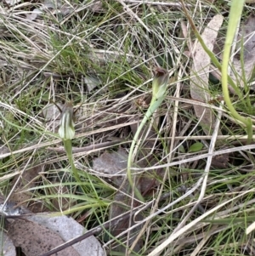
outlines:
[{"label": "long pinkish-tan dry leaf standing upright behind grass, upper right", "polygon": [[[201,35],[204,43],[207,45],[207,48],[211,51],[222,22],[223,16],[220,14],[215,15]],[[207,93],[210,63],[210,57],[204,51],[201,44],[197,43],[195,45],[195,54],[193,58],[193,65],[191,67],[192,79],[190,79],[190,94],[193,100],[201,102],[208,102],[210,100],[210,94]],[[215,122],[212,110],[201,105],[194,105],[194,109],[196,117],[201,118],[200,124],[204,132],[206,134],[211,134]]]}]

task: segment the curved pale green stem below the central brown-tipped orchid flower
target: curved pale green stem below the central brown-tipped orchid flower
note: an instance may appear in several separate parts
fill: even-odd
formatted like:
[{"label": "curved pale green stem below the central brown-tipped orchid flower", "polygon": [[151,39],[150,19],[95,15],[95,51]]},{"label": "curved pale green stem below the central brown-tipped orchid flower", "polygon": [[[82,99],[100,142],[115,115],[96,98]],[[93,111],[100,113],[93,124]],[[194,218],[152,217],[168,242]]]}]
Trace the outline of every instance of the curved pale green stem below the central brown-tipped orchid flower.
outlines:
[{"label": "curved pale green stem below the central brown-tipped orchid flower", "polygon": [[162,101],[165,99],[165,96],[162,96],[159,99],[156,99],[155,97],[152,98],[150,101],[150,107],[146,111],[144,118],[142,122],[139,125],[139,128],[137,129],[136,133],[134,134],[133,141],[130,147],[130,151],[128,154],[128,159],[127,159],[127,179],[129,181],[129,185],[133,188],[134,190],[134,195],[139,199],[139,201],[144,202],[144,197],[141,195],[140,191],[137,189],[137,187],[133,183],[132,179],[132,173],[131,173],[131,167],[132,167],[132,162],[133,162],[133,151],[134,147],[137,144],[137,141],[139,139],[139,134],[141,130],[144,128],[144,124],[150,119],[150,117],[153,115],[153,113],[156,111],[156,109],[161,105]]}]

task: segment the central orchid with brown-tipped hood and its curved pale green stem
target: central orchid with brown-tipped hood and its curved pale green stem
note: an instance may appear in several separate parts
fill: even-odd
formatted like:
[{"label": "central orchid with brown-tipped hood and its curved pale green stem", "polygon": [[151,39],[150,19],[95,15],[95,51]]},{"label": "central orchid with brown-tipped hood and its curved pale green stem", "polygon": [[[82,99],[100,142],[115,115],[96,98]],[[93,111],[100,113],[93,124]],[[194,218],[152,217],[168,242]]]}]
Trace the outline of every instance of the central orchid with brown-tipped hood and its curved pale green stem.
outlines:
[{"label": "central orchid with brown-tipped hood and its curved pale green stem", "polygon": [[133,141],[129,150],[128,158],[127,158],[127,179],[129,181],[129,185],[134,191],[134,195],[141,201],[144,202],[144,197],[141,195],[138,188],[134,185],[131,173],[132,162],[134,161],[134,147],[138,142],[139,134],[141,130],[144,128],[144,124],[150,119],[153,113],[157,110],[157,108],[161,105],[162,101],[165,100],[167,83],[169,80],[169,73],[161,68],[156,69],[156,75],[152,81],[152,100],[150,101],[149,109],[146,111],[142,122],[139,125],[136,133],[133,136]]}]

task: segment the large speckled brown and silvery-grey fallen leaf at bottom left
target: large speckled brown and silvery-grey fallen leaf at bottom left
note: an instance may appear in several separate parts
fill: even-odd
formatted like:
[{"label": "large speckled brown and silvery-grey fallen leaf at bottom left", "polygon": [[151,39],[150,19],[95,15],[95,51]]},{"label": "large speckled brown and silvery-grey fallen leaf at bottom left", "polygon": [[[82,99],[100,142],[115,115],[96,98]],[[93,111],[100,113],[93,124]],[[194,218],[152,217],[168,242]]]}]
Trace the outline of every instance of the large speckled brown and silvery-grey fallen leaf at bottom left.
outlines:
[{"label": "large speckled brown and silvery-grey fallen leaf at bottom left", "polygon": [[[54,247],[81,236],[85,231],[82,225],[67,216],[53,217],[52,213],[40,213],[22,216],[22,218],[27,220],[15,219],[9,225],[8,236],[16,247],[22,248],[26,256],[47,253]],[[58,255],[105,256],[105,252],[97,239],[94,236],[89,236],[72,247],[66,247]]]}]

